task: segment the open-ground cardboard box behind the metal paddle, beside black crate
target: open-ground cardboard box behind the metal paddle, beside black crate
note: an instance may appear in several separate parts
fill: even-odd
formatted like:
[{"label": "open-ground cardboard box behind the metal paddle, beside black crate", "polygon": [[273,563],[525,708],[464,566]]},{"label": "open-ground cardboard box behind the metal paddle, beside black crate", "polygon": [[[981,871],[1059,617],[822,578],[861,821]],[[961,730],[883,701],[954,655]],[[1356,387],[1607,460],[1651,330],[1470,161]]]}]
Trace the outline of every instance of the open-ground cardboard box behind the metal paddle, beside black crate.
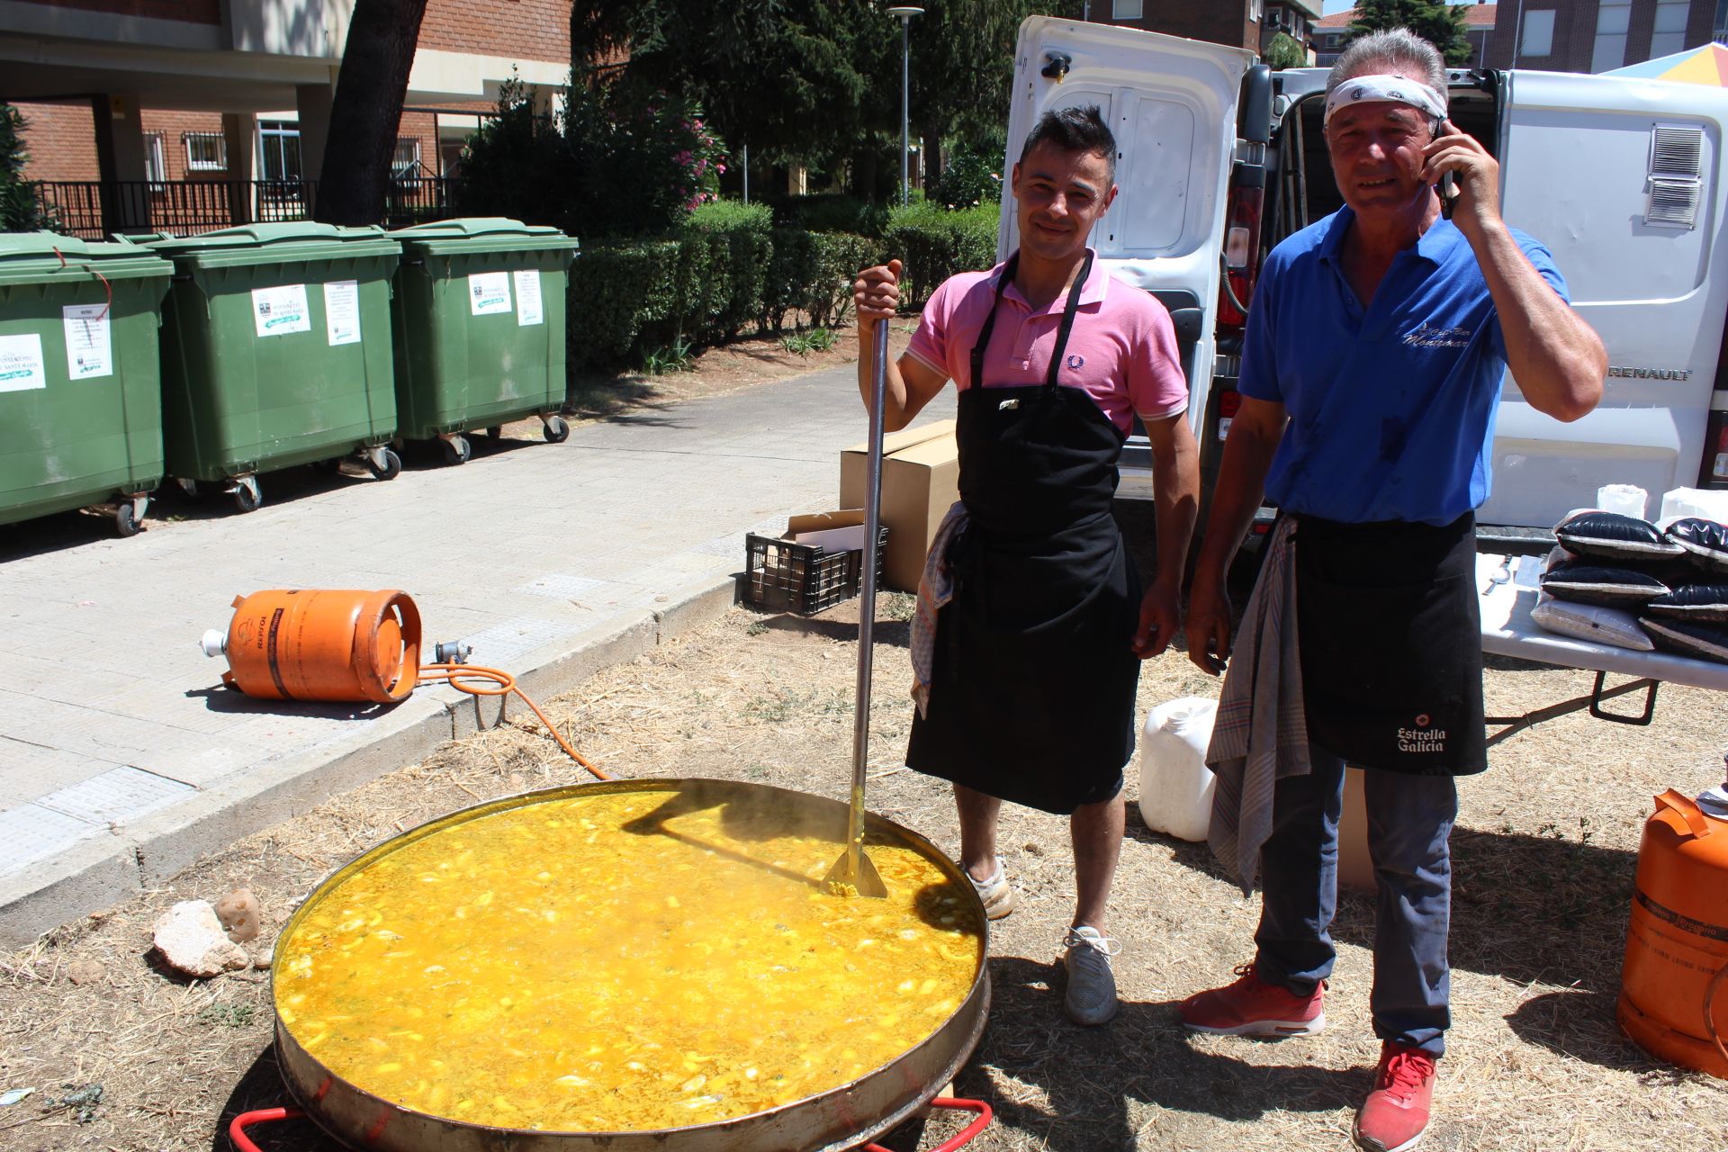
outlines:
[{"label": "open-ground cardboard box behind the metal paddle, beside black crate", "polygon": [[[864,503],[864,466],[869,447],[840,454],[840,503]],[[949,504],[959,499],[961,459],[954,421],[942,420],[883,437],[881,522],[888,525],[888,553],[881,565],[883,587],[916,592],[924,556]]]}]

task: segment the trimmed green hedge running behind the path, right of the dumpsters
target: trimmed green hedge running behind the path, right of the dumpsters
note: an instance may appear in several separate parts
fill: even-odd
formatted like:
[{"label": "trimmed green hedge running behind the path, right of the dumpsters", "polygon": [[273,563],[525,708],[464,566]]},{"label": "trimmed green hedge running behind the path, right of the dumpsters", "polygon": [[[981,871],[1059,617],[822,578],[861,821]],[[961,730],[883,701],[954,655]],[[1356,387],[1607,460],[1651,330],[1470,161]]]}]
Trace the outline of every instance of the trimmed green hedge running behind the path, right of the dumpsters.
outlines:
[{"label": "trimmed green hedge running behind the path, right of the dumpsters", "polygon": [[907,269],[907,307],[947,276],[995,263],[995,207],[949,212],[914,204],[886,237],[776,228],[762,206],[721,200],[662,240],[584,240],[570,268],[572,368],[622,368],[646,352],[726,340],[746,326],[831,326],[852,307],[852,280],[888,256]]}]

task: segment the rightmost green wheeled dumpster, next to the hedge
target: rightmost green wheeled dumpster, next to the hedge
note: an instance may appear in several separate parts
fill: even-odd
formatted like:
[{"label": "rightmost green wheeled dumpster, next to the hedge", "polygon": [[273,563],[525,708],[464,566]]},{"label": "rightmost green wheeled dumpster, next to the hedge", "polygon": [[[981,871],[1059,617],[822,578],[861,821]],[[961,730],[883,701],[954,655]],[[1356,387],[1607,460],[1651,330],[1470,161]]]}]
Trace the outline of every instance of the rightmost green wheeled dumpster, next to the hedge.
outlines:
[{"label": "rightmost green wheeled dumpster, next to the hedge", "polygon": [[396,271],[396,409],[408,440],[437,439],[460,465],[470,428],[494,435],[539,416],[553,444],[563,406],[563,297],[577,242],[515,219],[442,219],[391,233]]}]

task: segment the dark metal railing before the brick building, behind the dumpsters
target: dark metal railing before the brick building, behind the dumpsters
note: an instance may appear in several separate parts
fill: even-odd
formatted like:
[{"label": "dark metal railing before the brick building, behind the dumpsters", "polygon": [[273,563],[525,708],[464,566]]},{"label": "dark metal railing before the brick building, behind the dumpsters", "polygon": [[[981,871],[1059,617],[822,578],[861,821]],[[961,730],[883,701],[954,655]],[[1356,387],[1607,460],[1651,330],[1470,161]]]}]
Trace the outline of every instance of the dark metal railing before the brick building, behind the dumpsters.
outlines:
[{"label": "dark metal railing before the brick building, behind the dumpsters", "polygon": [[[413,176],[391,181],[387,228],[451,216],[454,180]],[[168,231],[192,237],[235,225],[311,219],[316,180],[43,180],[36,206],[55,230],[83,240],[112,233]]]}]

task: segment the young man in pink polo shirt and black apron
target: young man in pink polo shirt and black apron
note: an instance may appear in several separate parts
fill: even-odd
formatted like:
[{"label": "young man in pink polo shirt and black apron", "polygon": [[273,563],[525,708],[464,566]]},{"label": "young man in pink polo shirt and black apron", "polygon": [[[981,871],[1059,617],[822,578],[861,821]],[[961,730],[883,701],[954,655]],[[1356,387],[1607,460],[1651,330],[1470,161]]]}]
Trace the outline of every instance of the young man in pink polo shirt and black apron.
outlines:
[{"label": "young man in pink polo shirt and black apron", "polygon": [[[930,551],[912,665],[905,762],[952,781],[961,865],[985,912],[1014,896],[997,855],[1004,800],[1070,815],[1077,903],[1063,940],[1064,1009],[1116,1014],[1104,934],[1121,850],[1121,769],[1134,753],[1139,661],[1177,636],[1199,504],[1170,314],[1099,268],[1092,225],[1116,195],[1116,142],[1099,109],[1047,112],[1013,171],[1020,250],[930,297],[888,364],[885,427],[959,390],[961,501]],[[900,261],[854,285],[866,406],[876,325],[895,316]],[[1154,451],[1158,573],[1142,598],[1111,515],[1134,416]]]}]

